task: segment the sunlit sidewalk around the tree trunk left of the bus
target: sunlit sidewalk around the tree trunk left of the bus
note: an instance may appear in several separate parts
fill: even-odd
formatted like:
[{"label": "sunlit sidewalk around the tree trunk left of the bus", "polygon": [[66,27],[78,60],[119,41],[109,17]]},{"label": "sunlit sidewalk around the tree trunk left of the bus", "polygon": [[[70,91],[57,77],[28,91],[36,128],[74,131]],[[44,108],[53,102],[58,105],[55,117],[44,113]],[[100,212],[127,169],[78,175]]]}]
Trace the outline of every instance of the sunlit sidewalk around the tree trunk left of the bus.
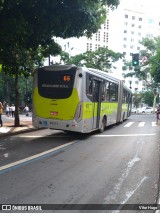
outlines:
[{"label": "sunlit sidewalk around the tree trunk left of the bus", "polygon": [[[3,127],[0,127],[0,137],[9,134],[23,133],[26,131],[36,130],[32,126],[32,114],[26,116],[20,114],[20,127],[14,127],[14,118],[2,115]],[[7,134],[6,134],[7,133]]]}]

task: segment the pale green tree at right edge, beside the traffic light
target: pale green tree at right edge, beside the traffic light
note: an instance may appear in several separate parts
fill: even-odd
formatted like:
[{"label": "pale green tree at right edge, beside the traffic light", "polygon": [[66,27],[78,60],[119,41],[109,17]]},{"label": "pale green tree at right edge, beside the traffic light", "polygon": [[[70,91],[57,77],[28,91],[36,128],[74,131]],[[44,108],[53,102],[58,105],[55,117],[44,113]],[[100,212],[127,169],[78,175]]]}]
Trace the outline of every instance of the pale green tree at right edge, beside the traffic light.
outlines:
[{"label": "pale green tree at right edge, beside the traffic light", "polygon": [[[144,46],[144,49],[139,52],[141,64],[130,69],[125,77],[135,76],[145,81],[148,91],[153,93],[153,108],[155,109],[160,90],[160,37],[143,38],[140,44]],[[147,60],[144,60],[144,57]],[[126,65],[123,69],[126,70]]]}]

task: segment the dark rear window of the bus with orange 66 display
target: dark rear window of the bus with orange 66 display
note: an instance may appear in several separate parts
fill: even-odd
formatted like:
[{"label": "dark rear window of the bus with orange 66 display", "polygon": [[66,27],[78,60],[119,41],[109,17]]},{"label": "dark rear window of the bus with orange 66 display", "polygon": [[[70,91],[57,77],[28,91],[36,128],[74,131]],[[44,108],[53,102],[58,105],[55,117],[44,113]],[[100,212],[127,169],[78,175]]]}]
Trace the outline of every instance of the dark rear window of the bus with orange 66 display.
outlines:
[{"label": "dark rear window of the bus with orange 66 display", "polygon": [[38,70],[38,91],[44,98],[63,99],[72,94],[75,68],[70,70]]}]

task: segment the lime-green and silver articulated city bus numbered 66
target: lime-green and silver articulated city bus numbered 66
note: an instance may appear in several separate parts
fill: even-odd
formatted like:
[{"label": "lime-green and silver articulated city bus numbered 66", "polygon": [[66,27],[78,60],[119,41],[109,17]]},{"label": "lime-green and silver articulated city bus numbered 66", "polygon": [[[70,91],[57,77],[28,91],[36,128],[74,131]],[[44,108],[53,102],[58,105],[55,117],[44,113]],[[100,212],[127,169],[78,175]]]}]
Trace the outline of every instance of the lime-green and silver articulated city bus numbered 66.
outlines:
[{"label": "lime-green and silver articulated city bus numbered 66", "polygon": [[103,132],[131,114],[132,93],[110,74],[75,65],[37,68],[33,80],[33,126]]}]

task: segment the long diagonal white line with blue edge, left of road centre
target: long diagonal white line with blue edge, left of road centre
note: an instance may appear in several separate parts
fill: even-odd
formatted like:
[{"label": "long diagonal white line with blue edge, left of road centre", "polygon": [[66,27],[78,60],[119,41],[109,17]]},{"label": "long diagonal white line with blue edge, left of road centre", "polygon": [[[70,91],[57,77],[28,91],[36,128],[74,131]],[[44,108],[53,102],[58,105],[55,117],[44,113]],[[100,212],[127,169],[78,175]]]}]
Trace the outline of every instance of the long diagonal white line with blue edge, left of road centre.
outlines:
[{"label": "long diagonal white line with blue edge, left of road centre", "polygon": [[42,157],[42,156],[44,156],[44,155],[47,155],[47,154],[52,153],[52,152],[54,152],[54,151],[57,151],[57,150],[59,150],[59,149],[65,148],[65,147],[67,147],[67,146],[70,146],[70,145],[74,144],[75,142],[76,142],[76,141],[72,141],[72,142],[69,142],[69,143],[67,143],[67,144],[64,144],[64,145],[55,147],[55,148],[53,148],[53,149],[47,150],[47,151],[45,151],[45,152],[41,152],[41,153],[39,153],[39,154],[37,154],[37,155],[33,155],[33,156],[31,156],[31,157],[28,157],[28,158],[25,158],[25,159],[22,159],[22,160],[19,160],[19,161],[16,161],[16,162],[7,164],[7,165],[5,165],[5,166],[1,166],[1,167],[0,167],[0,171],[2,171],[2,170],[4,170],[4,169],[11,168],[11,167],[13,167],[13,166],[17,166],[17,165],[22,164],[22,163],[26,163],[26,162],[31,161],[31,160],[34,160],[34,159],[36,159],[36,158]]}]

